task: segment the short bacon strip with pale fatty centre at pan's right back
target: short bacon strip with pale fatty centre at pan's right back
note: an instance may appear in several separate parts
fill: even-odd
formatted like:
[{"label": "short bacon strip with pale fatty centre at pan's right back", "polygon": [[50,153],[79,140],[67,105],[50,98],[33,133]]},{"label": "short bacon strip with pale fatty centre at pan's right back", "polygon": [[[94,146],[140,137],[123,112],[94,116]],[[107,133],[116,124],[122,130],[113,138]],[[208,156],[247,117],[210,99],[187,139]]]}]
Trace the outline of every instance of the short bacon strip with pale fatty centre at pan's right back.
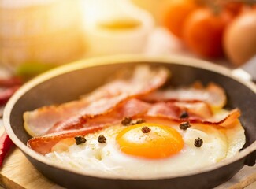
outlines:
[{"label": "short bacon strip with pale fatty centre at pan's right back", "polygon": [[221,109],[226,103],[223,88],[215,83],[210,83],[206,88],[187,87],[154,91],[143,100],[147,102],[182,101],[182,102],[207,102],[213,108]]}]

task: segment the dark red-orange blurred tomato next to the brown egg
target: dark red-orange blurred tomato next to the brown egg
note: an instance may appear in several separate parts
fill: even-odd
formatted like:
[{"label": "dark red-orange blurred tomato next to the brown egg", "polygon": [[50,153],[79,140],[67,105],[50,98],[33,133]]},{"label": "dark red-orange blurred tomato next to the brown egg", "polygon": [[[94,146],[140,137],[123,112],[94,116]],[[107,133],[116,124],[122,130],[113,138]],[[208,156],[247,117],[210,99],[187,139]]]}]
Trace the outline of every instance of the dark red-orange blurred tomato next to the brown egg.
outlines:
[{"label": "dark red-orange blurred tomato next to the brown egg", "polygon": [[221,57],[224,54],[222,36],[230,20],[232,15],[227,11],[214,13],[207,7],[196,9],[184,23],[184,43],[201,57]]}]

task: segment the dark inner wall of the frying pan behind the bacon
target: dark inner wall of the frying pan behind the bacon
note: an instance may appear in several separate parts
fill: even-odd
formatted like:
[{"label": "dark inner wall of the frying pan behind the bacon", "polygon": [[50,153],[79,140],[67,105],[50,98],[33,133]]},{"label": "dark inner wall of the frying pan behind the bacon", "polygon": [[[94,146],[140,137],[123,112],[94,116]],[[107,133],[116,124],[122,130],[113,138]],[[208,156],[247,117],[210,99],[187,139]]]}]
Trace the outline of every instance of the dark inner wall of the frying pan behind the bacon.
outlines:
[{"label": "dark inner wall of the frying pan behind the bacon", "polygon": [[[10,124],[13,127],[13,132],[23,143],[27,143],[30,136],[25,134],[26,132],[23,127],[22,114],[25,111],[77,99],[80,95],[86,94],[87,92],[92,91],[95,87],[102,85],[102,83],[106,82],[106,78],[111,76],[113,72],[125,69],[134,64],[139,64],[139,62],[99,65],[67,72],[55,76],[51,80],[39,83],[39,85],[33,87],[32,90],[24,94],[13,107],[10,115]],[[246,87],[243,83],[239,83],[237,80],[234,80],[229,76],[221,75],[216,71],[209,71],[175,63],[148,62],[148,64],[164,65],[171,70],[172,77],[167,85],[175,87],[184,86],[191,84],[196,80],[200,80],[204,84],[214,82],[224,87],[224,90],[228,95],[226,108],[239,108],[242,112],[240,120],[246,129],[246,146],[255,141],[256,135],[254,134],[256,133],[256,127],[254,127],[254,124],[256,123],[256,117],[254,117],[253,105],[256,104],[256,98],[254,91],[251,91],[250,88]]]}]

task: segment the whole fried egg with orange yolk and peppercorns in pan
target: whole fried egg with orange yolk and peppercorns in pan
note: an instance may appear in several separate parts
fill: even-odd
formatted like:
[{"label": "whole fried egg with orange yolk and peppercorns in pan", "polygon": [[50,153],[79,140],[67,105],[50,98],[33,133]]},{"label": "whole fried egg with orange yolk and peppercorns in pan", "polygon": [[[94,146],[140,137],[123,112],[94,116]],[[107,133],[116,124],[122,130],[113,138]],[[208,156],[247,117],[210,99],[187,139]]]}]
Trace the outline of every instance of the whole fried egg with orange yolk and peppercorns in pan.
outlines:
[{"label": "whole fried egg with orange yolk and peppercorns in pan", "polygon": [[[237,154],[245,143],[239,120],[229,128],[179,126],[175,122],[113,125],[85,135],[86,142],[79,145],[75,139],[63,139],[46,158],[91,174],[145,179],[212,165]],[[105,143],[98,142],[100,135]]]}]

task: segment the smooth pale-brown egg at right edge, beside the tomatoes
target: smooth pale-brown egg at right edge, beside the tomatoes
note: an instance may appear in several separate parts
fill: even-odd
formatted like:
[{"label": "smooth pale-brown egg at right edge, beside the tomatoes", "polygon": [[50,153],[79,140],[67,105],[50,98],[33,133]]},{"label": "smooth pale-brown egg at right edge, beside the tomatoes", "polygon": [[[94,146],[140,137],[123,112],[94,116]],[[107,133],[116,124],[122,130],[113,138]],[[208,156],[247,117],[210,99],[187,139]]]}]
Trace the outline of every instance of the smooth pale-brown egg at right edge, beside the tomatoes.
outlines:
[{"label": "smooth pale-brown egg at right edge, beside the tomatoes", "polygon": [[256,55],[256,9],[240,14],[224,31],[224,51],[235,65]]}]

